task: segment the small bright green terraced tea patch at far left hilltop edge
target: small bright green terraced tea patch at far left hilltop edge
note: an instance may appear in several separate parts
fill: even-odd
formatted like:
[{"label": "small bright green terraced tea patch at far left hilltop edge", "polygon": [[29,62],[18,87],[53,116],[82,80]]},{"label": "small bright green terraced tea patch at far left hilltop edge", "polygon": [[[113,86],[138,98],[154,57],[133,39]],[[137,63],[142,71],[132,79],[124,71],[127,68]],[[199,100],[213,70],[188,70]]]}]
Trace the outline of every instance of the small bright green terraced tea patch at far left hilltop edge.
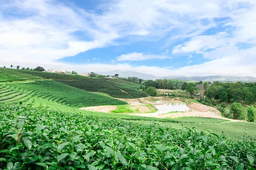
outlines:
[{"label": "small bright green terraced tea patch at far left hilltop edge", "polygon": [[42,79],[41,77],[24,74],[10,68],[0,68],[0,82],[13,81],[33,81]]}]

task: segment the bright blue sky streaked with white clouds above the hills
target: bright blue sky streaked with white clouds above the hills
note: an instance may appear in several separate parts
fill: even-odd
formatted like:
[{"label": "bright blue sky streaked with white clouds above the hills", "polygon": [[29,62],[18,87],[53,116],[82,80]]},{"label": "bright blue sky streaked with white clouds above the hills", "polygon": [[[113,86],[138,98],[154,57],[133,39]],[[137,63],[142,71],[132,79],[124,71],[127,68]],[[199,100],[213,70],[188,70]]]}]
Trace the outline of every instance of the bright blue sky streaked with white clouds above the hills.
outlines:
[{"label": "bright blue sky streaked with white clouds above the hills", "polygon": [[1,0],[10,65],[256,77],[256,0]]}]

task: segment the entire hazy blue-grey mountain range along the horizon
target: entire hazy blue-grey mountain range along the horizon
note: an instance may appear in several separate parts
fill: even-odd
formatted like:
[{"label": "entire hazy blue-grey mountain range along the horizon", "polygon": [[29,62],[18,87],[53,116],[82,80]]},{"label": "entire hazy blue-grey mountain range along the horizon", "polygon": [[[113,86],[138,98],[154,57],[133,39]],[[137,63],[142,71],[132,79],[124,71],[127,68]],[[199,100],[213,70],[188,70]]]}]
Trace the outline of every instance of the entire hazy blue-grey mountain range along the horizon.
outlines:
[{"label": "entire hazy blue-grey mountain range along the horizon", "polygon": [[242,77],[242,76],[166,76],[166,77],[156,77],[151,74],[145,74],[140,73],[137,71],[120,71],[120,70],[114,70],[114,71],[107,71],[107,72],[97,72],[98,74],[104,74],[104,75],[115,75],[119,74],[119,77],[138,77],[140,79],[180,79],[186,82],[199,82],[199,81],[205,81],[205,82],[256,82],[255,77]]}]

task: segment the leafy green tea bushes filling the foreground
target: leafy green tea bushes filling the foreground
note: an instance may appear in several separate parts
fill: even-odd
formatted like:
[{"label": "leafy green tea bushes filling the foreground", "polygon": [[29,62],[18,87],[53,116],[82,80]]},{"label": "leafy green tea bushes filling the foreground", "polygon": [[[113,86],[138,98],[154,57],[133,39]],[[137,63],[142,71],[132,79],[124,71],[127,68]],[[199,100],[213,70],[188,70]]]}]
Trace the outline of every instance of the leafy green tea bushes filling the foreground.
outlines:
[{"label": "leafy green tea bushes filling the foreground", "polygon": [[[249,138],[231,141],[194,128],[175,130],[22,104],[0,104],[0,112],[0,168],[7,170],[256,168],[256,141]],[[21,128],[18,116],[26,116]]]}]

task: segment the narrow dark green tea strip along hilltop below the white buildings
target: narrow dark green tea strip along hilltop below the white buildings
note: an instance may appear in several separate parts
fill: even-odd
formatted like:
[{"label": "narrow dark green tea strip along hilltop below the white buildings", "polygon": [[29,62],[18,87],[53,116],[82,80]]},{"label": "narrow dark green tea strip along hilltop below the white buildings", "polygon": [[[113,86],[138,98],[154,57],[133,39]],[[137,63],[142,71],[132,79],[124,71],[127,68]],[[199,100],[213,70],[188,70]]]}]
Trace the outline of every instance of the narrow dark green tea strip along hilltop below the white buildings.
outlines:
[{"label": "narrow dark green tea strip along hilltop below the white buildings", "polygon": [[43,77],[45,79],[63,79],[63,80],[86,80],[91,79],[90,77],[71,75],[71,74],[60,74],[60,73],[48,73],[42,71],[27,71],[27,70],[16,70],[20,73],[30,74],[33,76]]}]

